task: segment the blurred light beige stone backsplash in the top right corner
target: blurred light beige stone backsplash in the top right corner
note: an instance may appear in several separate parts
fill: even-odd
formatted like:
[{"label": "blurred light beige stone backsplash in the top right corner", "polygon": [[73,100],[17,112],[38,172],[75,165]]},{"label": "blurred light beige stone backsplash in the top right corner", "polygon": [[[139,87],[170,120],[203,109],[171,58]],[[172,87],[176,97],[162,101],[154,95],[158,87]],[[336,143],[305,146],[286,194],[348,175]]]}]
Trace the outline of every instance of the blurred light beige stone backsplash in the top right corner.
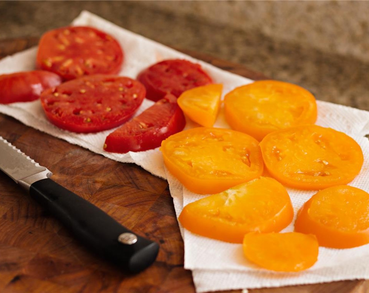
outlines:
[{"label": "blurred light beige stone backsplash in the top right corner", "polygon": [[192,15],[327,52],[369,61],[369,1],[151,1],[142,3]]}]

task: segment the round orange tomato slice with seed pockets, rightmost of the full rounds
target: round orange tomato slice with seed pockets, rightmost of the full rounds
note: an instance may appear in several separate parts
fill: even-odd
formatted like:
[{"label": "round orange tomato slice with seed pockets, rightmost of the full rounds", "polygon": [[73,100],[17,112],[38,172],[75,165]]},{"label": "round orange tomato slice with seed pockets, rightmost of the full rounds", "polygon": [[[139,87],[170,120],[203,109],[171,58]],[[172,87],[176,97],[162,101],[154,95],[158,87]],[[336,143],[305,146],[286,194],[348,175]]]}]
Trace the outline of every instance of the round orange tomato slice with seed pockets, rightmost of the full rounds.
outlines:
[{"label": "round orange tomato slice with seed pockets, rightmost of the full rounds", "polygon": [[302,125],[278,130],[260,143],[265,167],[282,184],[323,189],[347,184],[360,172],[361,147],[331,128]]}]

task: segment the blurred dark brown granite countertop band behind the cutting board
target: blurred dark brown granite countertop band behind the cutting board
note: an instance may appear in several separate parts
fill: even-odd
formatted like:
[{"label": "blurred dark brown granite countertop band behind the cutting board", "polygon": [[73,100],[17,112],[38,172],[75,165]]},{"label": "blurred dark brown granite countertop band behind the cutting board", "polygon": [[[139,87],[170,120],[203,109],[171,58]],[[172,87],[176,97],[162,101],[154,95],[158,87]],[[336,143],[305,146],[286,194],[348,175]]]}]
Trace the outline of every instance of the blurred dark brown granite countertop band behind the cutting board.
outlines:
[{"label": "blurred dark brown granite countertop band behind the cutting board", "polygon": [[48,29],[68,25],[82,10],[165,45],[237,62],[270,78],[299,84],[318,100],[369,110],[369,64],[363,61],[278,41],[257,31],[165,13],[140,1],[0,1],[0,39],[41,36]]}]

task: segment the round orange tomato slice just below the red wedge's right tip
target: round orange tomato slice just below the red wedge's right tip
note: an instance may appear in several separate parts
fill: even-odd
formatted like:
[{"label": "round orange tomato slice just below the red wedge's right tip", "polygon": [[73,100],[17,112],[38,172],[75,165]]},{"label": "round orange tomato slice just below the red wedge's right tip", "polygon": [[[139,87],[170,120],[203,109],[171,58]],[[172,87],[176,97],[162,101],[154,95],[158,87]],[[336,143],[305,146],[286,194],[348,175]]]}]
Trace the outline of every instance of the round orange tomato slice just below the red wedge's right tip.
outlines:
[{"label": "round orange tomato slice just below the red wedge's right tip", "polygon": [[160,150],[169,172],[195,193],[218,193],[263,172],[258,141],[234,130],[188,129],[163,140]]}]

